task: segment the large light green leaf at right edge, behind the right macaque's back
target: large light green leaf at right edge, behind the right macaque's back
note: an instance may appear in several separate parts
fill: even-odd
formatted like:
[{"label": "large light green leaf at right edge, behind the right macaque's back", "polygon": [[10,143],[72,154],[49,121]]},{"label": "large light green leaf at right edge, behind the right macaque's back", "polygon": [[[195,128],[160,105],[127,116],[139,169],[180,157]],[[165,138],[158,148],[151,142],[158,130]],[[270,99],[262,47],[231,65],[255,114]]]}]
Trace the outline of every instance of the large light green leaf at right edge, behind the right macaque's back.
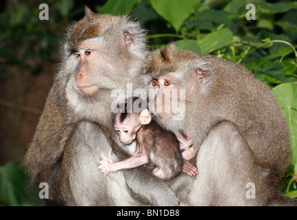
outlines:
[{"label": "large light green leaf at right edge, behind the right macaque's back", "polygon": [[272,89],[276,101],[285,113],[291,140],[291,164],[297,173],[297,84],[283,83]]}]

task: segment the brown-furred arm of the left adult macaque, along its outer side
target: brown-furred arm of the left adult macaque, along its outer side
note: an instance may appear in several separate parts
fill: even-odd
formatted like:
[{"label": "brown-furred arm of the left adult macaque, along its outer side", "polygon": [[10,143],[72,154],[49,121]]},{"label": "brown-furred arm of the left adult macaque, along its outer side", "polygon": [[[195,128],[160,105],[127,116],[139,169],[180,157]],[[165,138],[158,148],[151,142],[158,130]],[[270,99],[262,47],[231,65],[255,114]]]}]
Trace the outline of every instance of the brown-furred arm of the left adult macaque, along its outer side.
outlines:
[{"label": "brown-furred arm of the left adult macaque, along its outer side", "polygon": [[47,181],[53,175],[54,164],[63,155],[65,143],[76,128],[76,124],[68,123],[65,103],[56,81],[48,94],[36,132],[23,158],[23,166],[30,172],[34,183]]}]

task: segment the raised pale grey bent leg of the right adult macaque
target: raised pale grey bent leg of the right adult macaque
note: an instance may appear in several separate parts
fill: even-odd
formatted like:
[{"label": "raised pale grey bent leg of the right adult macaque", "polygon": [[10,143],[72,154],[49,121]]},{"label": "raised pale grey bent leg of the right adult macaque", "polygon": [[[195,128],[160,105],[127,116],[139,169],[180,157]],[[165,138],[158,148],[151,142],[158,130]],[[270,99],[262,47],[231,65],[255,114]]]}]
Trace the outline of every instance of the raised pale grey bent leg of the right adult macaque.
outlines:
[{"label": "raised pale grey bent leg of the right adult macaque", "polygon": [[221,122],[209,132],[197,168],[190,205],[263,206],[275,194],[267,170],[256,165],[245,137],[231,122]]}]

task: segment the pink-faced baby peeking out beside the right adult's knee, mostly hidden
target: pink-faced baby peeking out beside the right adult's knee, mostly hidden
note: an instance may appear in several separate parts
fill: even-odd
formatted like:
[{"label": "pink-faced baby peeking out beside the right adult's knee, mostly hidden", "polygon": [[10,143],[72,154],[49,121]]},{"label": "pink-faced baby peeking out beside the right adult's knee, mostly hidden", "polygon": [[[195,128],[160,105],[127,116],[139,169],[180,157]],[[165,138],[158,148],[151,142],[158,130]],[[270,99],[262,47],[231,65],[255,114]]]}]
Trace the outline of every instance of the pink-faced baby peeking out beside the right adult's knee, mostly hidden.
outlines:
[{"label": "pink-faced baby peeking out beside the right adult's knee, mostly hidden", "polygon": [[183,156],[183,172],[190,176],[196,176],[198,174],[198,169],[188,162],[196,154],[194,152],[194,144],[192,137],[189,133],[183,133],[182,131],[174,133],[179,142],[179,147],[181,148],[181,155]]}]

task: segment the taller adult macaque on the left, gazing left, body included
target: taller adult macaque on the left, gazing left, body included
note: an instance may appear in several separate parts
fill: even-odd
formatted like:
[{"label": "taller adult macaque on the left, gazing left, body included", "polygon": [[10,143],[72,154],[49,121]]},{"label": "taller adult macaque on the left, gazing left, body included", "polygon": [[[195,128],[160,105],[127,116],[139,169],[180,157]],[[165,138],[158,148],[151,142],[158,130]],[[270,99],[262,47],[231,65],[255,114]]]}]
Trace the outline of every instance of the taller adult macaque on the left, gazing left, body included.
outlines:
[{"label": "taller adult macaque on the left, gazing left, body included", "polygon": [[[34,184],[48,183],[45,204],[131,206],[137,199],[177,206],[174,192],[140,167],[102,174],[102,159],[126,159],[112,122],[112,90],[143,87],[145,32],[127,17],[94,14],[68,28],[57,78],[23,159]],[[149,184],[148,184],[149,183]]]}]

